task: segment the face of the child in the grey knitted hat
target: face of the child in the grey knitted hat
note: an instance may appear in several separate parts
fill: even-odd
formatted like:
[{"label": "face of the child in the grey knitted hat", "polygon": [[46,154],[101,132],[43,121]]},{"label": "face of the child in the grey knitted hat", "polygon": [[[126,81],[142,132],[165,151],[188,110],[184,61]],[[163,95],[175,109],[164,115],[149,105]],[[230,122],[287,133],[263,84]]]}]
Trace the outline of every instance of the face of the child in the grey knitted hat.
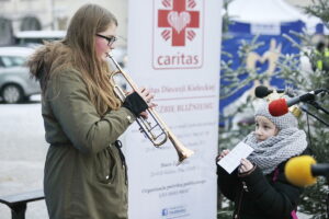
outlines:
[{"label": "face of the child in the grey knitted hat", "polygon": [[264,116],[256,116],[256,137],[258,141],[266,140],[272,136],[276,136],[279,129],[276,126],[266,117]]}]

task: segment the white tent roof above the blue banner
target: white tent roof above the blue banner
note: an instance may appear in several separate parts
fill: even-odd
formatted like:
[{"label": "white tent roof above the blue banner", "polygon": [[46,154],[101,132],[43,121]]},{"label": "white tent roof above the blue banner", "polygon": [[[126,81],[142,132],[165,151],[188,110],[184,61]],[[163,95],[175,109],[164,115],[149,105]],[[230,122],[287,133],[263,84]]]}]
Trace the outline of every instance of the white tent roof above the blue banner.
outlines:
[{"label": "white tent roof above the blue banner", "polygon": [[[308,33],[316,32],[316,25],[322,23],[316,16],[309,16],[284,0],[234,0],[228,5],[228,14],[234,21],[251,24],[280,24],[302,21]],[[326,30],[325,33],[329,33]]]}]

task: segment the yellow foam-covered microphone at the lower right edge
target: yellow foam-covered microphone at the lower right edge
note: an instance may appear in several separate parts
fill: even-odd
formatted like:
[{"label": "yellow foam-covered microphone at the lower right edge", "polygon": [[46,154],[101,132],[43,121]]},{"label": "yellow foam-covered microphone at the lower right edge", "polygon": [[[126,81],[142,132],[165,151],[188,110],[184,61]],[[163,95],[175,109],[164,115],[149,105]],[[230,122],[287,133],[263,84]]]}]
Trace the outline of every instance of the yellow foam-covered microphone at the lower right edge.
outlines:
[{"label": "yellow foam-covered microphone at the lower right edge", "polygon": [[329,175],[329,163],[316,164],[310,155],[299,155],[292,158],[284,166],[284,174],[288,182],[304,187],[317,182],[316,176]]}]

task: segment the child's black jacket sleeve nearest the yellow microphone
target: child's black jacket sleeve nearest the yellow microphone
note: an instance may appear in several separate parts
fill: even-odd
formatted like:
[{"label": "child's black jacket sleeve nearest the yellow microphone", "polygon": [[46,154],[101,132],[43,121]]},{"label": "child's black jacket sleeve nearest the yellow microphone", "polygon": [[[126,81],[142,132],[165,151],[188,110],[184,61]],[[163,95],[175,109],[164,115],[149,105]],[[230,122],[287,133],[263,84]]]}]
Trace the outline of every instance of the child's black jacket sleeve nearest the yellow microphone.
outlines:
[{"label": "child's black jacket sleeve nearest the yellow microphone", "polygon": [[282,171],[272,183],[259,168],[241,177],[241,181],[246,182],[249,197],[256,201],[262,215],[273,218],[290,218],[303,192],[300,187],[290,184]]}]

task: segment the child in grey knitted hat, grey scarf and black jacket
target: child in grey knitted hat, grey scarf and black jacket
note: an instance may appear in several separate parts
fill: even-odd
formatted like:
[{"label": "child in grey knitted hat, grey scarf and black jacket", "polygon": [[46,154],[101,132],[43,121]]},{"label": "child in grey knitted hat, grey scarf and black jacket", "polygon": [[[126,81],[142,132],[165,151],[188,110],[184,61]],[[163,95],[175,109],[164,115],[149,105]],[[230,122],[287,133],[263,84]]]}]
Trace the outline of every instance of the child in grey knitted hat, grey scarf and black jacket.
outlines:
[{"label": "child in grey knitted hat, grey scarf and black jacket", "polygon": [[[254,151],[231,174],[217,168],[218,188],[235,203],[235,219],[296,218],[303,188],[287,182],[284,165],[290,158],[306,153],[306,134],[297,128],[292,113],[274,117],[268,108],[268,103],[257,108],[256,130],[243,139]],[[228,152],[222,151],[217,161]]]}]

